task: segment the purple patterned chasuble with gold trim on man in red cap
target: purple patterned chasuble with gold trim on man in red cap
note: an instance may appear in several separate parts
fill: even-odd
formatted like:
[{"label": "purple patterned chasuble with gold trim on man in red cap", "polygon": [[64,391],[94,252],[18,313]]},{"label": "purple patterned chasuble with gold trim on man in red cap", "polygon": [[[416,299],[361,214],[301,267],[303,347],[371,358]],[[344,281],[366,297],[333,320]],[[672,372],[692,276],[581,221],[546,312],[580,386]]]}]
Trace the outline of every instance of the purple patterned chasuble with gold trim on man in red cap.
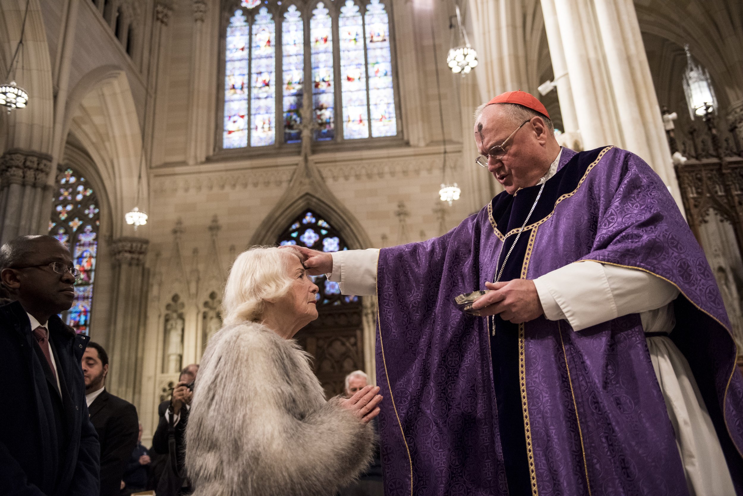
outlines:
[{"label": "purple patterned chasuble with gold trim on man in red cap", "polygon": [[[493,281],[539,187],[502,192],[440,238],[380,252],[387,496],[688,494],[638,314],[576,332],[565,320],[516,325],[453,304]],[[681,291],[671,339],[743,495],[743,378],[722,299],[666,186],[629,151],[563,149],[501,280],[588,260]]]}]

